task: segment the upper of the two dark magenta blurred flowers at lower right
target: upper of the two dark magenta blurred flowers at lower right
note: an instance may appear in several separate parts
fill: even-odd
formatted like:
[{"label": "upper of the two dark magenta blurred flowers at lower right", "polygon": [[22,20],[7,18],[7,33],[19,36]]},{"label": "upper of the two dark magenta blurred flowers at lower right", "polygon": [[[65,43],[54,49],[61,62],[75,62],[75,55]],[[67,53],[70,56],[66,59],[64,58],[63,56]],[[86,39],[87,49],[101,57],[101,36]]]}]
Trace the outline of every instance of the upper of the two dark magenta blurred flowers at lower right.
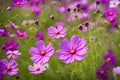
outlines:
[{"label": "upper of the two dark magenta blurred flowers at lower right", "polygon": [[111,50],[108,50],[108,52],[104,54],[104,60],[105,60],[105,64],[108,64],[111,66],[112,65],[114,66],[116,64],[116,57]]}]

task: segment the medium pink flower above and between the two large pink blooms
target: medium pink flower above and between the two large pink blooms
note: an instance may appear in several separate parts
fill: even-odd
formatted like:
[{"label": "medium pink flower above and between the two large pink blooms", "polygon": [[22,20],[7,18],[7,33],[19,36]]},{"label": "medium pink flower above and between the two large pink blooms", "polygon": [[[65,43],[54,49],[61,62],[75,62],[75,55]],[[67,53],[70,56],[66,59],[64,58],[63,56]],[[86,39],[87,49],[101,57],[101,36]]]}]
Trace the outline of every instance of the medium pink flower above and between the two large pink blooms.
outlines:
[{"label": "medium pink flower above and between the two large pink blooms", "polygon": [[58,23],[57,23],[56,27],[50,26],[48,28],[48,35],[53,37],[53,38],[65,37],[66,36],[66,31],[61,24],[58,25]]}]

